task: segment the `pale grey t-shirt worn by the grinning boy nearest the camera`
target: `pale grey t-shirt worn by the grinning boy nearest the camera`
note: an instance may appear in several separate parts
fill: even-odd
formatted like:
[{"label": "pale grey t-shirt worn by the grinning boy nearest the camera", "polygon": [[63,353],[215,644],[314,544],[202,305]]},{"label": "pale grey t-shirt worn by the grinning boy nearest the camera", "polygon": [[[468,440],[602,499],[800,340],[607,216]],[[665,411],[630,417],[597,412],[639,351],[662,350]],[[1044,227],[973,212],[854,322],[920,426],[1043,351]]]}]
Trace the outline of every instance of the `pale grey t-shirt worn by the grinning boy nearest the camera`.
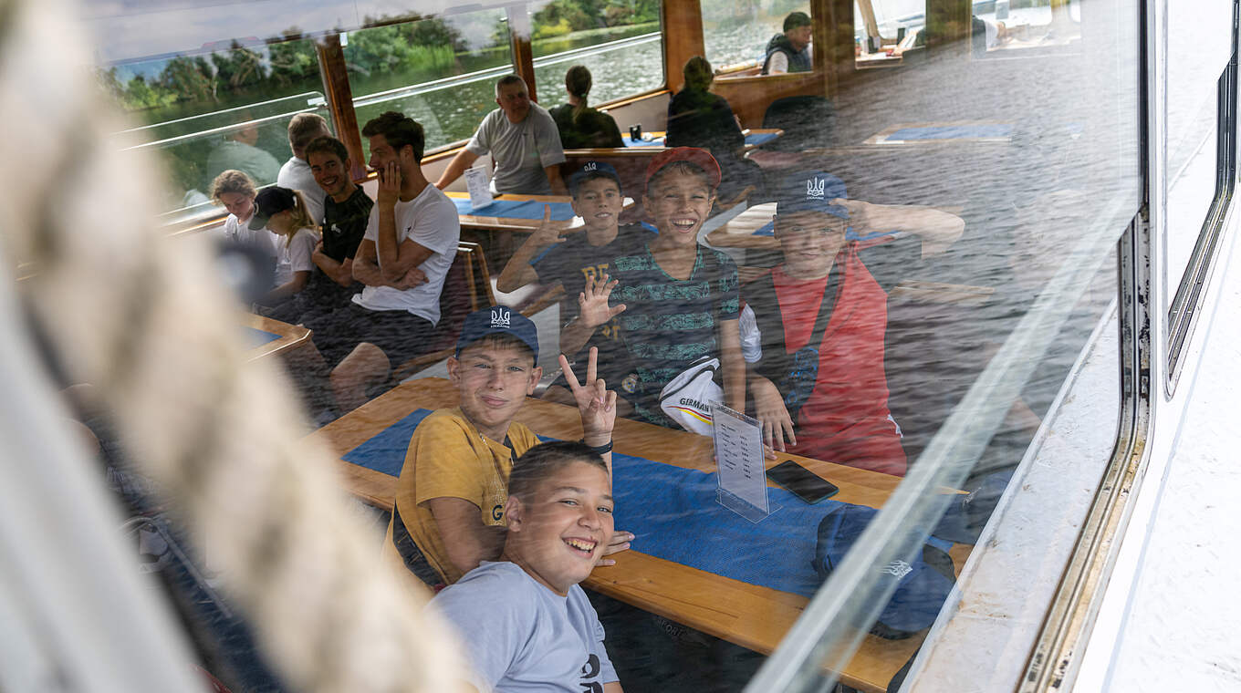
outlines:
[{"label": "pale grey t-shirt worn by the grinning boy nearest the camera", "polygon": [[480,692],[581,693],[619,681],[582,588],[560,596],[514,563],[484,560],[431,607],[458,632]]}]

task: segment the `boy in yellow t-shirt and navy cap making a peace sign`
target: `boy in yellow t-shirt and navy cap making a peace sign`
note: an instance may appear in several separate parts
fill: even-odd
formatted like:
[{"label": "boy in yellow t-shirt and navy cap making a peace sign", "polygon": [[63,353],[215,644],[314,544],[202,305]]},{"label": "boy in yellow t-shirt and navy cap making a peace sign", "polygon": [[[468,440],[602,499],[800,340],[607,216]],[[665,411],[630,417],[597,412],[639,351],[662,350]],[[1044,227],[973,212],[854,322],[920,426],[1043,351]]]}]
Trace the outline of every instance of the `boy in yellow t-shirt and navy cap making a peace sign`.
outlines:
[{"label": "boy in yellow t-shirt and navy cap making a peace sign", "polygon": [[[582,441],[611,469],[616,393],[596,378],[594,352],[578,384],[561,357],[582,420]],[[505,541],[506,485],[513,462],[539,444],[514,419],[534,394],[542,368],[539,332],[529,317],[505,306],[465,317],[448,377],[460,405],[441,409],[413,431],[397,481],[383,552],[428,585],[452,584],[483,560],[495,560]],[[629,548],[617,533],[604,553]],[[393,555],[395,554],[395,555]]]}]

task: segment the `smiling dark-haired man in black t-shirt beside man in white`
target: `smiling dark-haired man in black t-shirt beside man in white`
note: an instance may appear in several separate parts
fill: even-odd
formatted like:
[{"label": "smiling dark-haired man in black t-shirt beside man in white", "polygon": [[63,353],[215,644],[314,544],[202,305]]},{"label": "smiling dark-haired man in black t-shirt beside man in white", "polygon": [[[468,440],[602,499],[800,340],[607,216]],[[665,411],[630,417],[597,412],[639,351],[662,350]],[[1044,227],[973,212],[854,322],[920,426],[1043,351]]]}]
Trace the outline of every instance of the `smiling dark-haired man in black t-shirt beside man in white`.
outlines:
[{"label": "smiling dark-haired man in black t-shirt beside man in white", "polygon": [[326,193],[323,205],[323,239],[311,260],[315,270],[295,300],[273,312],[285,322],[307,322],[344,307],[362,284],[354,279],[354,253],[357,252],[366,221],[375,202],[354,183],[349,150],[331,136],[315,138],[305,148],[307,164],[319,187]]}]

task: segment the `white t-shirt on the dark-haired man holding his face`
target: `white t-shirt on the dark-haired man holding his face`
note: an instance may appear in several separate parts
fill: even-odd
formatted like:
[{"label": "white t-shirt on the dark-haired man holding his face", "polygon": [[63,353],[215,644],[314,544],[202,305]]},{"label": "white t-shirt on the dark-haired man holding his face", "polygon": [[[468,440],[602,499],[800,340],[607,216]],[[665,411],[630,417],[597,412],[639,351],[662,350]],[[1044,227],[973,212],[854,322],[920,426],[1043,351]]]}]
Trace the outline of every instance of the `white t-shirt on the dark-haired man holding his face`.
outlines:
[{"label": "white t-shirt on the dark-haired man holding his face", "polygon": [[[366,222],[366,241],[376,243],[379,250],[380,206],[371,207]],[[396,244],[406,238],[431,250],[418,269],[427,275],[427,283],[413,289],[393,289],[392,286],[366,286],[354,296],[354,302],[369,310],[405,310],[424,317],[432,324],[439,322],[439,290],[444,286],[444,276],[457,257],[457,241],[460,238],[462,224],[457,216],[457,206],[448,196],[433,185],[427,185],[417,197],[408,202],[396,203]],[[381,263],[382,267],[382,263]]]}]

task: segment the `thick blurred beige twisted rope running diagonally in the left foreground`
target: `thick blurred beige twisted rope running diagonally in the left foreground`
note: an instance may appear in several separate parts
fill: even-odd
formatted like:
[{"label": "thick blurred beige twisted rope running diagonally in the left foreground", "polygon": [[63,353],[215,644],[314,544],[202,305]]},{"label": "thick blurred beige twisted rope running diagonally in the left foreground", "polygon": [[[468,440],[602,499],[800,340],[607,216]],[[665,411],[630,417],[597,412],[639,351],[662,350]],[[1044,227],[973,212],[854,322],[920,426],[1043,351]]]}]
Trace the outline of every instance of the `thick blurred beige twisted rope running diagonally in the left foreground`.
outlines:
[{"label": "thick blurred beige twisted rope running diagonally in the left foreground", "polygon": [[381,568],[377,541],[300,438],[283,373],[246,363],[237,307],[202,244],[161,238],[159,164],[118,123],[58,0],[0,0],[6,262],[50,358],[114,412],[125,452],[298,691],[454,689],[455,651]]}]

